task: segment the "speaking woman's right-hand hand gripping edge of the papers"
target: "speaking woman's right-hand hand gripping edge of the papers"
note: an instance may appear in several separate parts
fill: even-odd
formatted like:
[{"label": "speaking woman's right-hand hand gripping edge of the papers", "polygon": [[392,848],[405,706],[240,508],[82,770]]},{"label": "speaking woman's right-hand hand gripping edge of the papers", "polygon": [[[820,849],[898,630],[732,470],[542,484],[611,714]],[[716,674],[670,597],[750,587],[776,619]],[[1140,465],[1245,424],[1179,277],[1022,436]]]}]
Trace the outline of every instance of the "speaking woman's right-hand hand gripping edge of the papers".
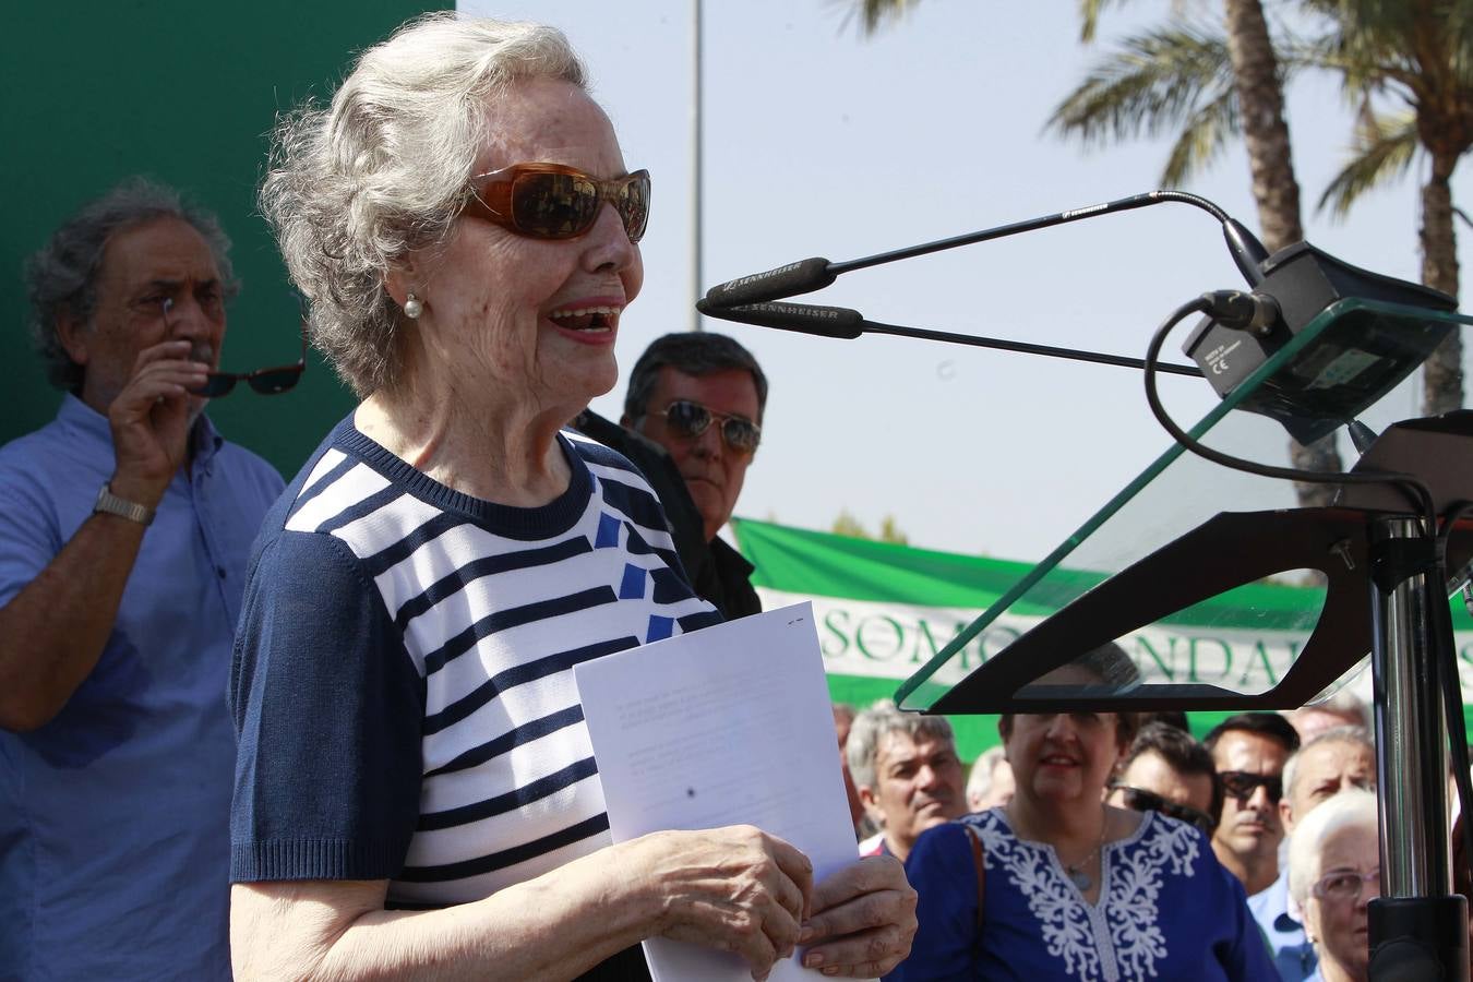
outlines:
[{"label": "speaking woman's right-hand hand gripping edge of the papers", "polygon": [[813,914],[800,942],[803,964],[823,975],[873,979],[910,954],[916,892],[893,855],[846,866],[813,891]]}]

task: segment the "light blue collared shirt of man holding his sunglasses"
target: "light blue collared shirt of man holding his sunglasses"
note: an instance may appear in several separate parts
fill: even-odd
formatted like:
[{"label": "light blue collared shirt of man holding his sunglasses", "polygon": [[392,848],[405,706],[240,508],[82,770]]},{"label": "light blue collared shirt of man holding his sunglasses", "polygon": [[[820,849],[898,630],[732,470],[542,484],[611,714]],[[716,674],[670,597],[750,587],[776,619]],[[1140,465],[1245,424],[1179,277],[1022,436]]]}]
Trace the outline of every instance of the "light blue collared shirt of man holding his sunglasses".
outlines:
[{"label": "light blue collared shirt of man holding his sunglasses", "polygon": [[[0,730],[0,979],[230,978],[225,683],[250,542],[283,484],[205,417],[191,440],[96,668],[46,726]],[[108,420],[72,396],[0,448],[0,605],[112,470]]]}]

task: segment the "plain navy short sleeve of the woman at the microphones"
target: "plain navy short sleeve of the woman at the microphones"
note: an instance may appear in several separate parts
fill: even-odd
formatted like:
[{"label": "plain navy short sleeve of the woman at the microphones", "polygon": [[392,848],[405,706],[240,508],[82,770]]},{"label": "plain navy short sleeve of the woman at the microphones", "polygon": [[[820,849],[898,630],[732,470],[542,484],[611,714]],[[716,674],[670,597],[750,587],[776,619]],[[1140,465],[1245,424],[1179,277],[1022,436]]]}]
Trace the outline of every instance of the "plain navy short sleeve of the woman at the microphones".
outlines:
[{"label": "plain navy short sleeve of the woman at the microphones", "polygon": [[339,539],[258,543],[228,696],[231,882],[393,879],[418,822],[424,686]]}]

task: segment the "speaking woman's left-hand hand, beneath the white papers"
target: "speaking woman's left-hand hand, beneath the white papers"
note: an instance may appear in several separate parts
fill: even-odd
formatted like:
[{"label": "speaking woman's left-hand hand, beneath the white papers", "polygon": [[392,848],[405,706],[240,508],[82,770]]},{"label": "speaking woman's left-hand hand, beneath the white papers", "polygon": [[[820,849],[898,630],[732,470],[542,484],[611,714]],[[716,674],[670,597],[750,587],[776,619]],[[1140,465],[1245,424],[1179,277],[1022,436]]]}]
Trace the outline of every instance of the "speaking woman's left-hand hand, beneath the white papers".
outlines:
[{"label": "speaking woman's left-hand hand, beneath the white papers", "polygon": [[660,904],[654,933],[734,951],[754,979],[792,954],[813,894],[803,852],[751,826],[657,832],[629,845],[630,872]]}]

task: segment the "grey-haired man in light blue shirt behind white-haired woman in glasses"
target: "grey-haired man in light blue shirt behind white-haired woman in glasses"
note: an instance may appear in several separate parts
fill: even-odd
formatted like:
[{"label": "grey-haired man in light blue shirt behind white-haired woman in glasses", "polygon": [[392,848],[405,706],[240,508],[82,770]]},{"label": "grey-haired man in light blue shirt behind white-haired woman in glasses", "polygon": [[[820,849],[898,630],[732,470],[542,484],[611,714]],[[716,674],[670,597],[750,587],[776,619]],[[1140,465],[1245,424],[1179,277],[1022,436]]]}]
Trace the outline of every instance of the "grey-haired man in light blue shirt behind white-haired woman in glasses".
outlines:
[{"label": "grey-haired man in light blue shirt behind white-haired woman in glasses", "polygon": [[[1279,817],[1284,833],[1304,823],[1317,807],[1351,788],[1376,791],[1376,745],[1363,726],[1339,726],[1307,741],[1284,764]],[[1258,926],[1274,951],[1274,967],[1284,982],[1314,973],[1314,944],[1305,936],[1304,916],[1289,895],[1289,866],[1268,889],[1248,898]]]}]

